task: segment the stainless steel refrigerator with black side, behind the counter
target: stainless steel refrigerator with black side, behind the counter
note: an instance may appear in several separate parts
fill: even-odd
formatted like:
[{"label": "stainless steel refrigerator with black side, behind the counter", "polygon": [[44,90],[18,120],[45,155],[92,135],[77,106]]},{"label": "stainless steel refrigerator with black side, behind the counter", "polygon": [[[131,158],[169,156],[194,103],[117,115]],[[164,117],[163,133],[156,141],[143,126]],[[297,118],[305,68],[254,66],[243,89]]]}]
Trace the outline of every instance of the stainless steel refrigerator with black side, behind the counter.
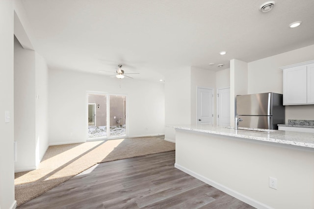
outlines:
[{"label": "stainless steel refrigerator with black side, behind the counter", "polygon": [[236,96],[238,127],[278,129],[285,123],[283,94],[257,93]]}]

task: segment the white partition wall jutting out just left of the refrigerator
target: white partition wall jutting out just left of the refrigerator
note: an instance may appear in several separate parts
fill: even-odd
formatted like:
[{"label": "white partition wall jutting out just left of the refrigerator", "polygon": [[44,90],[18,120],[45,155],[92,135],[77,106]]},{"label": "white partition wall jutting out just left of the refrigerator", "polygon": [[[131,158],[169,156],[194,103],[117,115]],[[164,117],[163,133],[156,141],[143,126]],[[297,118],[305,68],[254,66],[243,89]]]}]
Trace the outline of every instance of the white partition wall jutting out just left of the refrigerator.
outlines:
[{"label": "white partition wall jutting out just left of the refrigerator", "polygon": [[230,125],[235,125],[236,95],[248,93],[248,65],[241,60],[230,60]]}]

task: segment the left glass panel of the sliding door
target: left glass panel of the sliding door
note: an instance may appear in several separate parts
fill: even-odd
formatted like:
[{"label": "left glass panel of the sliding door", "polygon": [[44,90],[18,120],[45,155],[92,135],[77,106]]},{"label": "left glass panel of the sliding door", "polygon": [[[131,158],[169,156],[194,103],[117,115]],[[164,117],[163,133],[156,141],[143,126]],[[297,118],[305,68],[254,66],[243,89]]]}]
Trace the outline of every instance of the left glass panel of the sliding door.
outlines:
[{"label": "left glass panel of the sliding door", "polygon": [[107,137],[107,96],[88,94],[88,139]]}]

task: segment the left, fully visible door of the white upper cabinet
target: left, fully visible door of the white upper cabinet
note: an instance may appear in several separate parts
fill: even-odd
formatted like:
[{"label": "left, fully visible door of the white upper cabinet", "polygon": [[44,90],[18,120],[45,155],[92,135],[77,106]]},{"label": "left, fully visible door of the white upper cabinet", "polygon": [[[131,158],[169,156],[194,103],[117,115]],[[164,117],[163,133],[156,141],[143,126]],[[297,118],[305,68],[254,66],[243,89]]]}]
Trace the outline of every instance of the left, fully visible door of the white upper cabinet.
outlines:
[{"label": "left, fully visible door of the white upper cabinet", "polygon": [[307,103],[307,67],[284,70],[284,105]]}]

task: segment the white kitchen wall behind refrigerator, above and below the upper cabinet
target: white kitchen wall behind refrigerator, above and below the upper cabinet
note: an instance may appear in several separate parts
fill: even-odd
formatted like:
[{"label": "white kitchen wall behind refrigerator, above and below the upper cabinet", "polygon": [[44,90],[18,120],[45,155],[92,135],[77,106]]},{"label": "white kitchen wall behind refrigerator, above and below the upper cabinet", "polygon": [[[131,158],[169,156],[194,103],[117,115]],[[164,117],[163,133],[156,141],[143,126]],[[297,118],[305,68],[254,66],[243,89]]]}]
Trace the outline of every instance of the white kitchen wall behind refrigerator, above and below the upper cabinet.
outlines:
[{"label": "white kitchen wall behind refrigerator, above and below the upper cabinet", "polygon": [[[314,45],[248,63],[248,93],[283,93],[280,67],[314,60]],[[314,119],[314,105],[286,106],[288,119]]]}]

